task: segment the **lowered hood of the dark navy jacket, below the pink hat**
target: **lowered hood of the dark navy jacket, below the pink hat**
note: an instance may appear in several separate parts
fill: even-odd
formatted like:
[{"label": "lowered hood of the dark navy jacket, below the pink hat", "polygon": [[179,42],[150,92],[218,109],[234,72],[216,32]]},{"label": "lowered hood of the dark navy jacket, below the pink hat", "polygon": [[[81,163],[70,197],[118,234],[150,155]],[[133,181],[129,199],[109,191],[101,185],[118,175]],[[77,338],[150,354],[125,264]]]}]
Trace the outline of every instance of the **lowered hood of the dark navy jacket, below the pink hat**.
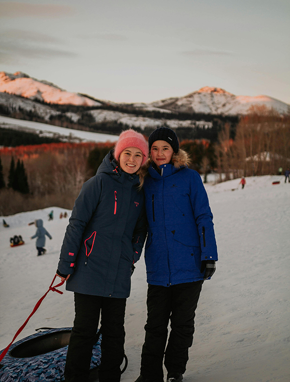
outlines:
[{"label": "lowered hood of the dark navy jacket, below the pink hat", "polygon": [[114,150],[110,150],[110,152],[104,157],[102,163],[99,165],[97,169],[97,175],[105,173],[115,178],[119,182],[123,183],[125,179],[133,180],[134,184],[139,183],[139,177],[136,174],[128,174],[119,167],[116,159],[114,158]]}]

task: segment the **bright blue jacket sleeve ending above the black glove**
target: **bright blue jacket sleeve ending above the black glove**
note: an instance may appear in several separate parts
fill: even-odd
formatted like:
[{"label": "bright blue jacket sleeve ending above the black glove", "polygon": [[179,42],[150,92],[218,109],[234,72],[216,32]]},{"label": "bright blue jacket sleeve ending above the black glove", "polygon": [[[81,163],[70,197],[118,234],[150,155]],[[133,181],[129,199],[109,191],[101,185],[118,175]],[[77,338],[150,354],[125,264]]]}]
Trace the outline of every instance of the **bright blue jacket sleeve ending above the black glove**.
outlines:
[{"label": "bright blue jacket sleeve ending above the black glove", "polygon": [[200,175],[194,171],[191,177],[191,204],[200,238],[201,261],[217,261],[217,247],[207,193]]}]

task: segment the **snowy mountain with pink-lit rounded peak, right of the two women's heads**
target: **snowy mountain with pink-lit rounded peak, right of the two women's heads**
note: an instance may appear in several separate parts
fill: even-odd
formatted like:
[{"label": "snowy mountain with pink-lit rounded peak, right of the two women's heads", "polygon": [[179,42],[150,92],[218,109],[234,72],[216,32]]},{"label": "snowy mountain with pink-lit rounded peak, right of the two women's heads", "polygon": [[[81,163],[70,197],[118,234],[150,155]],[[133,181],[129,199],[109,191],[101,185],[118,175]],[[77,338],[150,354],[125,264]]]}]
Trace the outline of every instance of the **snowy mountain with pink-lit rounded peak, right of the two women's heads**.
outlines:
[{"label": "snowy mountain with pink-lit rounded peak, right of the two women's heads", "polygon": [[[137,104],[138,105],[138,104]],[[175,112],[238,115],[246,114],[252,106],[265,105],[281,114],[290,112],[290,105],[267,95],[255,97],[233,95],[220,88],[204,87],[183,97],[171,97],[149,104]]]}]

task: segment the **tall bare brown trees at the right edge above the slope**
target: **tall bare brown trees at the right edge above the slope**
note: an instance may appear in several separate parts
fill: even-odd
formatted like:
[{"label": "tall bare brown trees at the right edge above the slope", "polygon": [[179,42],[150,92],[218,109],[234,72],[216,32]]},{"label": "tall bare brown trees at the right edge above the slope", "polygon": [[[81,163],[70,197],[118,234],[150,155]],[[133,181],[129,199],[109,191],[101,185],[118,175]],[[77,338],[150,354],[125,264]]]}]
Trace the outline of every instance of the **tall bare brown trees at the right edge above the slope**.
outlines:
[{"label": "tall bare brown trees at the right edge above the slope", "polygon": [[263,106],[241,118],[231,137],[226,124],[216,145],[217,168],[225,180],[241,176],[278,174],[290,167],[290,116]]}]

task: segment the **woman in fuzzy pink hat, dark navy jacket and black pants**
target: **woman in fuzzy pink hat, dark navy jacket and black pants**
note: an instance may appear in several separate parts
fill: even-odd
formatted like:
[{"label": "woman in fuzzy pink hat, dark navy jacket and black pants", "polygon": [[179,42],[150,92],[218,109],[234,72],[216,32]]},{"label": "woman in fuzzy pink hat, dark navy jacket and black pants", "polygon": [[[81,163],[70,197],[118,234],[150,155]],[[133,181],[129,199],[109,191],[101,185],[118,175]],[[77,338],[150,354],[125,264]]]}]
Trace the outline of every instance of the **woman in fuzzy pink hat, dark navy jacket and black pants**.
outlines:
[{"label": "woman in fuzzy pink hat, dark navy jacket and black pants", "polygon": [[66,289],[75,293],[66,382],[88,381],[100,311],[99,381],[120,381],[126,298],[147,235],[144,178],[139,178],[147,158],[143,135],[123,131],[75,201],[57,270]]}]

